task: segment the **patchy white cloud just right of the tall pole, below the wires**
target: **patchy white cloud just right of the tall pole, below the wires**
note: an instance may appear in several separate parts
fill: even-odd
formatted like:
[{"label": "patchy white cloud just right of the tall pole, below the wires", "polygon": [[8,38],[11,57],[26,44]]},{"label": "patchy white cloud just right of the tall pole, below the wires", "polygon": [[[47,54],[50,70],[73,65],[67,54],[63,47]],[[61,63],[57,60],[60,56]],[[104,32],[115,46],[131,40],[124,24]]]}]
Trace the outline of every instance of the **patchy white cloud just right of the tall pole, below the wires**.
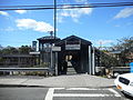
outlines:
[{"label": "patchy white cloud just right of the tall pole, below the wires", "polygon": [[[70,6],[64,6],[68,8]],[[62,9],[58,10],[58,22],[63,22],[65,18],[72,18],[74,22],[78,22],[82,16],[89,16],[92,13],[92,8],[80,8],[80,9]]]}]

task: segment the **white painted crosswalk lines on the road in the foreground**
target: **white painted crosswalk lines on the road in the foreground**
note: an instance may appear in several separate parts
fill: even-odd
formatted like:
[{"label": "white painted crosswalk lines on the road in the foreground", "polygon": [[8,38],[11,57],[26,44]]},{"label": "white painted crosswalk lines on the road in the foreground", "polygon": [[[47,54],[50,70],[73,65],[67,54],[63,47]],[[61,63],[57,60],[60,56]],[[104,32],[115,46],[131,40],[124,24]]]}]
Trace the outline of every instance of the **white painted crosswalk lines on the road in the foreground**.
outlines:
[{"label": "white painted crosswalk lines on the road in the foreground", "polygon": [[[54,93],[54,90],[109,90],[113,94],[106,93]],[[50,88],[44,100],[52,100],[53,97],[121,97],[114,89],[90,89],[90,88]]]}]

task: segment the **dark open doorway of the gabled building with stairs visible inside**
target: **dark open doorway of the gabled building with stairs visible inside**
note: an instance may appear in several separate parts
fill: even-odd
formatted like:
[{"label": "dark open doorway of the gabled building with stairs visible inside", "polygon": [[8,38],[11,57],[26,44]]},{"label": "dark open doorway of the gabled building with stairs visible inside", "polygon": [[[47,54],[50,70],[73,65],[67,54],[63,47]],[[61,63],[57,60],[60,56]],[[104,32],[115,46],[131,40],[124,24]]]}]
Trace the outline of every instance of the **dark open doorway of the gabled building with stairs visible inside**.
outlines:
[{"label": "dark open doorway of the gabled building with stairs visible inside", "polygon": [[65,51],[62,56],[61,74],[74,74],[81,72],[80,51]]}]

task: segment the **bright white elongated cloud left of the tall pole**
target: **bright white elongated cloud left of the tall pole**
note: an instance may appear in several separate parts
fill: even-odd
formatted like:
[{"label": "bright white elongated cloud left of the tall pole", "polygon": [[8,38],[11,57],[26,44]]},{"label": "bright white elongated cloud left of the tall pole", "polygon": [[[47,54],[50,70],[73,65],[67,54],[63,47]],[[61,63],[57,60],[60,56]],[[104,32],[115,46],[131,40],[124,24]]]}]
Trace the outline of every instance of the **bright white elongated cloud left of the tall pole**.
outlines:
[{"label": "bright white elongated cloud left of the tall pole", "polygon": [[54,28],[50,23],[35,21],[33,19],[18,19],[16,20],[16,22],[17,27],[20,29],[32,29],[39,32],[48,32],[54,30]]}]

